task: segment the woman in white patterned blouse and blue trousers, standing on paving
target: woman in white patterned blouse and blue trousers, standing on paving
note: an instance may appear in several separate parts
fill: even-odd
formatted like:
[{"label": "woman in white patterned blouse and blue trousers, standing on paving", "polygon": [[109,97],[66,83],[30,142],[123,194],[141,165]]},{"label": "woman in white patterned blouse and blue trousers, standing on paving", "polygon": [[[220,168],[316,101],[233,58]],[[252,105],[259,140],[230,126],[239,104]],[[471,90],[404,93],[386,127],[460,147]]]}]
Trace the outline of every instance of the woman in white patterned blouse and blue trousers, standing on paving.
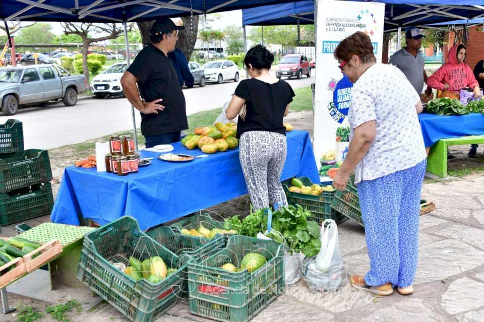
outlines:
[{"label": "woman in white patterned blouse and blue trousers, standing on paving", "polygon": [[393,294],[393,287],[411,294],[427,165],[417,117],[420,96],[398,68],[376,62],[364,32],[343,39],[334,57],[354,85],[349,151],[333,186],[344,190],[354,170],[370,257],[370,271],[351,276],[350,283],[382,296]]}]

